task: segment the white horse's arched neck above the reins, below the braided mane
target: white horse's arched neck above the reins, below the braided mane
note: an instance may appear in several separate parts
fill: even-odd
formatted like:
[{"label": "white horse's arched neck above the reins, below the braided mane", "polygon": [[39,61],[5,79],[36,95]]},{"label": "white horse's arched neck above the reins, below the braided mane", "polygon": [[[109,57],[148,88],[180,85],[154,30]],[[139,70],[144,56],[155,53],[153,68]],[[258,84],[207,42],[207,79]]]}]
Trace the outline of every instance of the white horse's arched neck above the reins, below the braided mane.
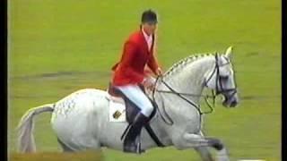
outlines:
[{"label": "white horse's arched neck above the reins, below the braided mane", "polygon": [[[201,95],[204,89],[204,76],[213,69],[213,62],[211,55],[198,58],[178,69],[178,72],[167,75],[164,80],[178,92]],[[197,104],[200,97],[188,98]]]}]

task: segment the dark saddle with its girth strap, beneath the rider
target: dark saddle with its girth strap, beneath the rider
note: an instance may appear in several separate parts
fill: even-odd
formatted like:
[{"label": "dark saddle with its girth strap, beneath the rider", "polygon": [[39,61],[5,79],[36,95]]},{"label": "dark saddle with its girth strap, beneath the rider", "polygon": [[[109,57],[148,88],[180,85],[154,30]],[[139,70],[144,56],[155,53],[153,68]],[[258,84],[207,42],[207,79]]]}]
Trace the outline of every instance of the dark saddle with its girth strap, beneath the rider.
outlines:
[{"label": "dark saddle with its girth strap, beneath the rider", "polygon": [[[142,84],[138,84],[138,85],[139,85],[140,89],[143,90],[143,93],[146,95],[143,85]],[[140,108],[138,106],[136,106],[131,100],[129,100],[128,97],[126,97],[124,93],[122,93],[119,89],[115,88],[110,82],[109,82],[108,93],[112,97],[121,97],[124,99],[125,104],[126,104],[126,122],[129,124],[133,123],[133,121],[135,119],[135,115],[140,112]],[[150,117],[148,119],[148,123],[145,124],[144,128],[149,133],[149,135],[152,137],[152,140],[154,140],[154,142],[158,145],[158,147],[164,147],[164,145],[161,143],[159,138],[156,136],[156,134],[152,130],[152,127],[149,123],[152,120],[152,117],[156,114],[158,106],[155,103],[155,101],[153,101],[150,97],[148,97],[148,98],[152,102],[153,110],[152,110],[152,114],[150,115]],[[128,126],[127,126],[127,128],[128,128]],[[125,134],[125,132],[124,132],[124,134]]]}]

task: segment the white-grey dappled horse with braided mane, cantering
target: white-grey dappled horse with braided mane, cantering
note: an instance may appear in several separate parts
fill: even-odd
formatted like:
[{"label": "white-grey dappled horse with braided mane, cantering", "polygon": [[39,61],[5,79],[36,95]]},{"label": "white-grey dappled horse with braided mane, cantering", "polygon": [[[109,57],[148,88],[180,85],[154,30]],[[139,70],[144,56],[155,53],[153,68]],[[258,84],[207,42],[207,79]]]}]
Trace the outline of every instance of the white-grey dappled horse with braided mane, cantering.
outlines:
[{"label": "white-grey dappled horse with braided mane, cantering", "polygon": [[[238,105],[231,53],[232,47],[229,47],[222,55],[191,55],[174,64],[156,80],[155,89],[148,92],[158,105],[150,125],[165,147],[195,148],[203,160],[213,160],[208,149],[212,147],[217,151],[217,160],[229,160],[221,140],[204,136],[199,101],[204,97],[204,88],[207,88],[215,91],[214,96],[221,94],[224,97],[223,106]],[[64,151],[101,147],[122,150],[120,136],[127,123],[109,121],[109,102],[107,91],[81,89],[56,103],[31,108],[22,116],[18,126],[20,151],[36,151],[32,135],[33,117],[43,112],[52,112],[51,125]],[[141,144],[143,149],[157,147],[144,129]]]}]

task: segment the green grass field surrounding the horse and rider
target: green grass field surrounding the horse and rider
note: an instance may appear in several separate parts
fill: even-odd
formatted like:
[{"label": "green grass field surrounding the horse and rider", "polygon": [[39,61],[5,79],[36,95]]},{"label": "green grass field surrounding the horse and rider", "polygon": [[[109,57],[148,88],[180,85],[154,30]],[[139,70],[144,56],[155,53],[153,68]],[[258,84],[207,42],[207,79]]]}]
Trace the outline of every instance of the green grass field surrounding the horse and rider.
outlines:
[{"label": "green grass field surrounding the horse and rider", "polygon": [[[239,92],[246,98],[235,109],[218,104],[215,113],[205,117],[205,133],[222,139],[232,159],[280,160],[280,2],[10,1],[9,151],[16,150],[14,128],[30,107],[55,102],[77,89],[105,89],[124,40],[137,30],[143,10],[153,8],[160,17],[157,56],[165,70],[187,55],[235,47]],[[49,118],[42,114],[36,119],[40,151],[60,150]],[[140,157],[103,151],[109,161],[199,159],[189,149],[155,148]]]}]

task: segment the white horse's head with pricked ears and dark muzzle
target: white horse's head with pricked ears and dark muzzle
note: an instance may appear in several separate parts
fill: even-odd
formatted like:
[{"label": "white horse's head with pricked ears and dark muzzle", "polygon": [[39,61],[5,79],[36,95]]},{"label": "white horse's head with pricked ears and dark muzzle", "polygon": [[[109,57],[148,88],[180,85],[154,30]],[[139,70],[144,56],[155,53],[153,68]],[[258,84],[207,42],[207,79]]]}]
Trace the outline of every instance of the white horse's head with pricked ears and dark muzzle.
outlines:
[{"label": "white horse's head with pricked ears and dark muzzle", "polygon": [[215,65],[205,77],[205,86],[214,89],[216,95],[222,94],[223,106],[234,107],[239,104],[237,86],[231,64],[232,47],[226,50],[224,55],[215,55]]}]

